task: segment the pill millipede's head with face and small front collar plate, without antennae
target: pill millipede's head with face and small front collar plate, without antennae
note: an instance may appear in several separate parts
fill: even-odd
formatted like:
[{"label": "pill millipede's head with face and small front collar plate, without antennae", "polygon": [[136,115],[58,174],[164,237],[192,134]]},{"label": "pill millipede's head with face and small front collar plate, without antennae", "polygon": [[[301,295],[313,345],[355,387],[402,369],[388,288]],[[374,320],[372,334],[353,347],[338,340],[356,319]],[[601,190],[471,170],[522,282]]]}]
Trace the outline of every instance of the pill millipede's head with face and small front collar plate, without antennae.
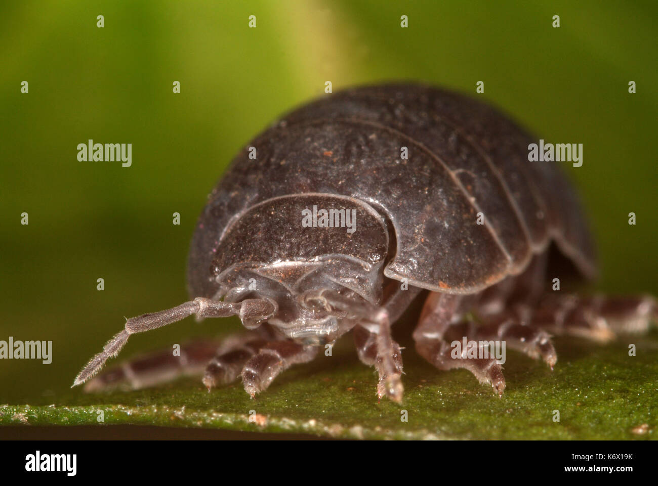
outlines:
[{"label": "pill millipede's head with face and small front collar plate, without antennae", "polygon": [[209,277],[218,289],[214,298],[269,299],[276,310],[266,320],[284,335],[331,342],[357,317],[328,296],[380,303],[388,243],[385,220],[358,199],[315,193],[268,199],[222,235]]}]

